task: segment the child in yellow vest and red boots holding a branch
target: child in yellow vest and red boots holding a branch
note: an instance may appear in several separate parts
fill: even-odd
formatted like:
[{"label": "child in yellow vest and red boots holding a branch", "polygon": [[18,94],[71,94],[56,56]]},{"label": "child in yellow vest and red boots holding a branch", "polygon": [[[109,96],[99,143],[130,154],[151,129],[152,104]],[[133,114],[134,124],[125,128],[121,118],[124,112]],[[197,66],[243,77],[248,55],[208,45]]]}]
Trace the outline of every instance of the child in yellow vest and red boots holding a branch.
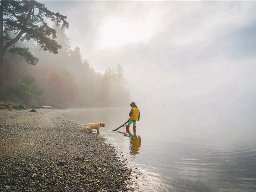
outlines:
[{"label": "child in yellow vest and red boots holding a branch", "polygon": [[[128,122],[128,125],[126,125],[126,132],[129,134],[129,137],[137,137],[136,135],[136,121],[140,120],[140,109],[136,106],[134,102],[130,104],[132,107],[129,116],[130,116],[130,121]],[[129,127],[133,123],[133,135],[130,133]]]}]

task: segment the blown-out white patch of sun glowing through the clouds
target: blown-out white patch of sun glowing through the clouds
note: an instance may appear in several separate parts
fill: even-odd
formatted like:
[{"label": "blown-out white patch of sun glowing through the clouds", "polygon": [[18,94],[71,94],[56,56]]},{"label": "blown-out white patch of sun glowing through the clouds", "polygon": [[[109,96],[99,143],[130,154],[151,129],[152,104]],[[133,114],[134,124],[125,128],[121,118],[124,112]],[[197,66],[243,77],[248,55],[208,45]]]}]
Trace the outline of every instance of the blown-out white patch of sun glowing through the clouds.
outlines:
[{"label": "blown-out white patch of sun glowing through the clouds", "polygon": [[117,47],[128,43],[138,43],[152,33],[150,23],[132,23],[118,19],[107,20],[100,27],[101,48]]}]

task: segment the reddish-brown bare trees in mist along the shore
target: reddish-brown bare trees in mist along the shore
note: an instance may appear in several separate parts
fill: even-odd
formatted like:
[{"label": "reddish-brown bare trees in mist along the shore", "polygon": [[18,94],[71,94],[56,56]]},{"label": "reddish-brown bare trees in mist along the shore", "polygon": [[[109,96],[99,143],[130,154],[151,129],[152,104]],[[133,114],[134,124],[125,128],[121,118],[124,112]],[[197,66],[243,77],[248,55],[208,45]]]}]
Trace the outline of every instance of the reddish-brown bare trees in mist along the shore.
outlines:
[{"label": "reddish-brown bare trees in mist along the shore", "polygon": [[41,97],[37,98],[34,104],[56,108],[75,106],[79,87],[69,71],[62,71],[50,65],[30,69],[29,76],[36,76],[36,84],[43,90]]}]

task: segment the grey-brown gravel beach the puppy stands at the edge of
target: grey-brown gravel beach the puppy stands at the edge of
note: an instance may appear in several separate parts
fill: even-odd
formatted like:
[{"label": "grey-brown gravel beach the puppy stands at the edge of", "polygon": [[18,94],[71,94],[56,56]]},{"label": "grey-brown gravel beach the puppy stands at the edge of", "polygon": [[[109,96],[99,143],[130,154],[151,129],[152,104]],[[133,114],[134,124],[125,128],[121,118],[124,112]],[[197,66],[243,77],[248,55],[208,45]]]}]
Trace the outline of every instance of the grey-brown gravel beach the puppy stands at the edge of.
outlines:
[{"label": "grey-brown gravel beach the puppy stands at the edge of", "polygon": [[131,170],[112,145],[61,116],[0,110],[0,191],[129,191]]}]

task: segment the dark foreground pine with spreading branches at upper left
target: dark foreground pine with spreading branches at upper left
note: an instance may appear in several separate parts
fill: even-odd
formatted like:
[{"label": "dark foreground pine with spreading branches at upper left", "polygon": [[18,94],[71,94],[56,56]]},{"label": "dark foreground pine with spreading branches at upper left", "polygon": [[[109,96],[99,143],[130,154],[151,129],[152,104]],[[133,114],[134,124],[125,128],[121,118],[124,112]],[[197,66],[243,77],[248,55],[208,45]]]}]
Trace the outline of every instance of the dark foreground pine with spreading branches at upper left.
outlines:
[{"label": "dark foreground pine with spreading branches at upper left", "polygon": [[15,44],[34,39],[44,51],[58,53],[61,45],[56,42],[56,30],[49,27],[47,20],[68,28],[67,16],[49,11],[36,1],[0,1],[0,78],[3,57],[6,51],[23,56],[28,64],[36,65],[38,59]]}]

